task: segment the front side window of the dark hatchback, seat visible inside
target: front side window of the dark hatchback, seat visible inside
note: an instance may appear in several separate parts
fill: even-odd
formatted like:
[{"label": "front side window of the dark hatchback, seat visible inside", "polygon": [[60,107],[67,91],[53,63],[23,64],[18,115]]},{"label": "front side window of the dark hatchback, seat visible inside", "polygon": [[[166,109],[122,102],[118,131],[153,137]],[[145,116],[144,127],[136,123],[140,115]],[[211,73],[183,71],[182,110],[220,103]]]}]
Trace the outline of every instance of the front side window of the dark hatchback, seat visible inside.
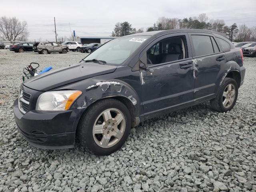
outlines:
[{"label": "front side window of the dark hatchback, seat visible inside", "polygon": [[161,64],[185,59],[187,58],[185,47],[184,36],[160,40],[147,50],[147,64]]}]

